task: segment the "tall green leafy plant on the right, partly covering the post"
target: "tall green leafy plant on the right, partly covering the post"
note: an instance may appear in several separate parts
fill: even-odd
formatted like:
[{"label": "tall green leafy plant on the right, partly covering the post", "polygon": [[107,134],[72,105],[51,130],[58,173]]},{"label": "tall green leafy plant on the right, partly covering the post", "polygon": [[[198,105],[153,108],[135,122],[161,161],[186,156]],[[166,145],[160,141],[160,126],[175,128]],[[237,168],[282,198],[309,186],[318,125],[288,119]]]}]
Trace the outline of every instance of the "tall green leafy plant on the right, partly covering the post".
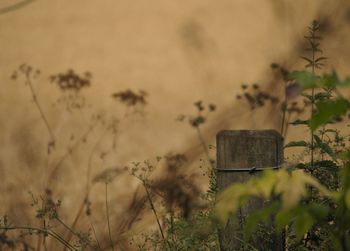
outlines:
[{"label": "tall green leafy plant on the right, partly covering the post", "polygon": [[311,111],[308,119],[289,123],[308,125],[310,140],[292,141],[285,148],[304,148],[311,155],[310,161],[265,171],[244,184],[230,186],[218,195],[215,210],[225,224],[249,198],[272,200],[248,217],[245,234],[249,236],[260,222],[273,219],[276,229],[286,233],[288,250],[350,250],[349,136],[334,128],[350,109],[349,100],[338,91],[350,86],[350,77],[341,80],[334,70],[316,75],[315,70],[326,59],[316,55],[322,52],[321,37],[316,34],[319,27],[313,22],[305,37],[312,56],[302,59],[311,71],[295,71],[286,78],[303,90],[301,96]]}]

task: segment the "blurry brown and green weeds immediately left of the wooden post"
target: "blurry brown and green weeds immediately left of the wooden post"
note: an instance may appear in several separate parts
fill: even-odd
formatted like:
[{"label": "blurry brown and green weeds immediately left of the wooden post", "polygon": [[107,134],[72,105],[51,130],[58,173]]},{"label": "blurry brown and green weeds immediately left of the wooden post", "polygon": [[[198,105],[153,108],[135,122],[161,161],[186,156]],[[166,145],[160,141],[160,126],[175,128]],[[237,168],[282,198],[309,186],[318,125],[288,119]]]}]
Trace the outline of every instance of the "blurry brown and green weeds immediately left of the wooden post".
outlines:
[{"label": "blurry brown and green weeds immediately left of the wooden post", "polygon": [[[154,176],[161,159],[165,162],[162,177]],[[206,238],[210,216],[206,203],[200,199],[200,190],[190,177],[179,173],[187,159],[182,154],[157,157],[156,164],[150,161],[135,162],[129,168],[145,192],[145,203],[150,207],[158,231],[143,235],[142,240],[133,240],[139,250],[214,250],[215,239]],[[202,201],[202,202],[201,202]],[[204,204],[203,204],[204,203]]]}]

